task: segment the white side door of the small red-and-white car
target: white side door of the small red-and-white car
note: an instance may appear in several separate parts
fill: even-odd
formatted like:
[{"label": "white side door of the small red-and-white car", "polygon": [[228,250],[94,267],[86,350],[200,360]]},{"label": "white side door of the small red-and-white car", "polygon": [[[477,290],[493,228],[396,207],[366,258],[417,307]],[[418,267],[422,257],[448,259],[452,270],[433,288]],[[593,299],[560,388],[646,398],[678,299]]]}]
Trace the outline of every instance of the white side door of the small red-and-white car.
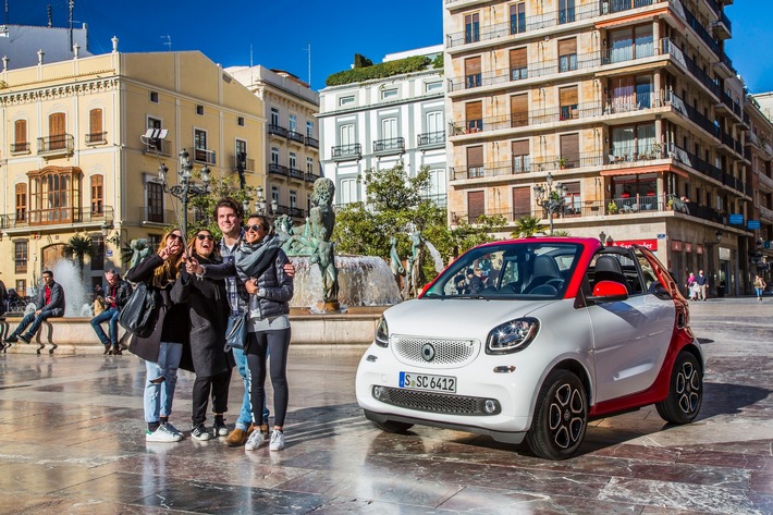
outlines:
[{"label": "white side door of the small red-and-white car", "polygon": [[[628,259],[640,272],[639,258]],[[637,278],[640,281],[640,275]],[[674,330],[675,307],[639,286],[626,301],[588,306],[593,330],[596,402],[646,390],[660,371]]]}]

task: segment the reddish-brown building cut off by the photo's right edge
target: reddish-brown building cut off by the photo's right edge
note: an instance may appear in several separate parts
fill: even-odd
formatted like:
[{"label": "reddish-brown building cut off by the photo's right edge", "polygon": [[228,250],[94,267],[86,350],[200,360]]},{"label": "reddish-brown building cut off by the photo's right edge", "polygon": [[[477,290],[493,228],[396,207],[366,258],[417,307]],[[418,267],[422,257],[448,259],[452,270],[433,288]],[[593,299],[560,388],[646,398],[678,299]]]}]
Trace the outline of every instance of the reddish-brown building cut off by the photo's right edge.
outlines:
[{"label": "reddish-brown building cut off by the photo's right edge", "polygon": [[[760,273],[770,284],[773,281],[773,122],[770,106],[764,103],[771,94],[751,95],[746,103],[749,131],[746,133],[746,151],[751,161],[753,204],[749,242],[751,273]],[[759,102],[758,100],[762,100]],[[766,112],[765,112],[766,111]]]}]

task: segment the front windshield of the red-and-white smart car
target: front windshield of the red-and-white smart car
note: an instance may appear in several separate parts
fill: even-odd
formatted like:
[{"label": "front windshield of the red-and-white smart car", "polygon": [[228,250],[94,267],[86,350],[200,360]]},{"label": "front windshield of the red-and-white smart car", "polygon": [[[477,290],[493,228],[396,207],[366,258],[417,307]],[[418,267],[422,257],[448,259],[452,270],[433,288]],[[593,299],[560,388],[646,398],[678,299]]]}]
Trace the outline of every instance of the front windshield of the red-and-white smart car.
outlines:
[{"label": "front windshield of the red-and-white smart car", "polygon": [[576,243],[516,241],[477,247],[454,261],[425,298],[561,298],[574,274]]}]

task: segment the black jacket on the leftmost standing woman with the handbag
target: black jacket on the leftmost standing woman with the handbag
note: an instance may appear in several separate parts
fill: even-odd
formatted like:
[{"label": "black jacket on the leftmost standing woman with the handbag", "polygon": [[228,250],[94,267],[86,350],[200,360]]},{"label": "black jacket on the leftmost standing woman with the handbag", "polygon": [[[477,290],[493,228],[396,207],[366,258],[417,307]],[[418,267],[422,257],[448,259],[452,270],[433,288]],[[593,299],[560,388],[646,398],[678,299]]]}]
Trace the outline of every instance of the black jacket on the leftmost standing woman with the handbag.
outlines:
[{"label": "black jacket on the leftmost standing woman with the handbag", "polygon": [[[126,279],[138,283],[142,281],[151,282],[154,271],[163,265],[163,259],[158,254],[146,256],[134,268],[126,272]],[[191,320],[188,310],[185,306],[175,304],[170,293],[175,283],[170,283],[165,287],[159,290],[161,294],[162,305],[158,312],[156,329],[148,338],[138,338],[132,335],[132,341],[128,344],[128,351],[145,360],[157,363],[158,354],[161,350],[161,342],[182,343],[187,345],[188,331],[191,329]],[[150,286],[155,287],[155,286]]]}]

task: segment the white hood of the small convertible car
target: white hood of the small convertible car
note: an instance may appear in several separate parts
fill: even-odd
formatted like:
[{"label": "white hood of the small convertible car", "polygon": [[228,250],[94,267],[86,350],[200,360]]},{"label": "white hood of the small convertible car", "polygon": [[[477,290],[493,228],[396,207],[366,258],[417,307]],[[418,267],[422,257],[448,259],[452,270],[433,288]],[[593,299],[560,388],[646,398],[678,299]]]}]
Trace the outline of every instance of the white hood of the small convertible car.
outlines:
[{"label": "white hood of the small convertible car", "polygon": [[556,301],[483,301],[469,298],[407,301],[384,311],[390,334],[486,339],[515,318],[533,315]]}]

